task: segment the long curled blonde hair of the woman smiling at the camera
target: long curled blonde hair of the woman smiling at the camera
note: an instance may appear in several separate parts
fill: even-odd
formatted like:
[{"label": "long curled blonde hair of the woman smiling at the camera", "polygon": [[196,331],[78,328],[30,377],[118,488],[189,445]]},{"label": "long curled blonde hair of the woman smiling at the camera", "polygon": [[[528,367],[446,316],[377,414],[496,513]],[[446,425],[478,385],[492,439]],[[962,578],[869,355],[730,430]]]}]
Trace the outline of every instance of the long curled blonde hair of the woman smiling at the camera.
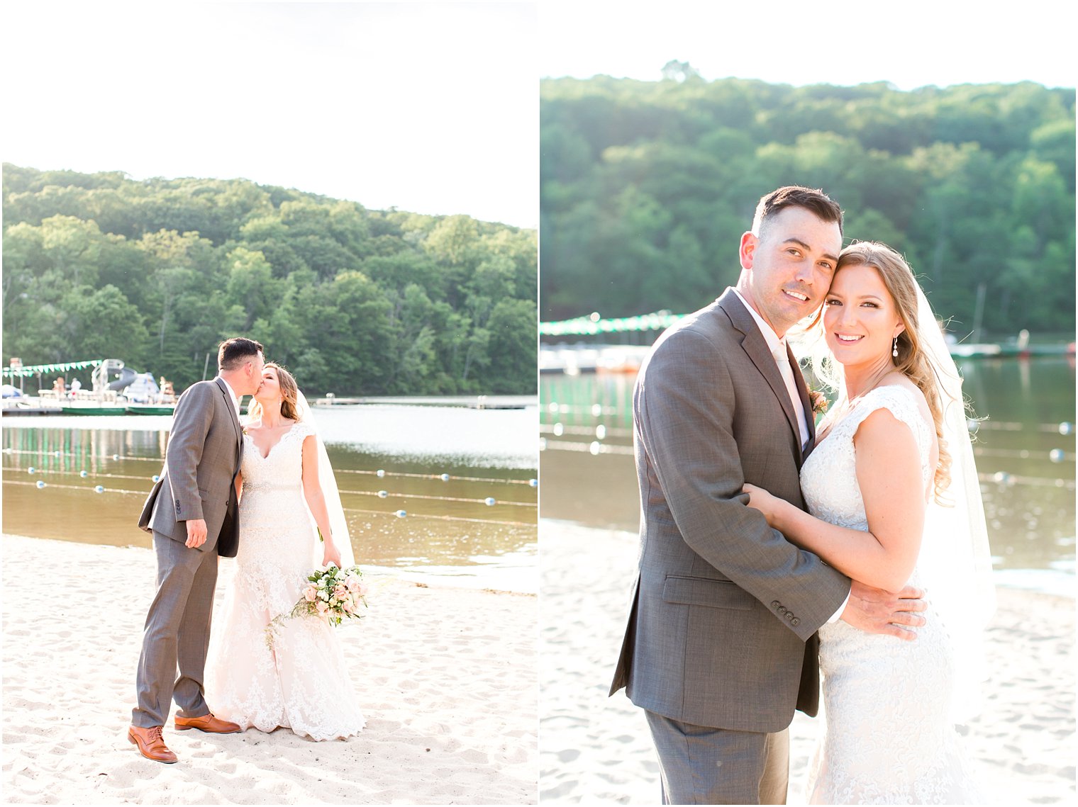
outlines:
[{"label": "long curled blonde hair of the woman smiling at the camera", "polygon": [[[940,387],[937,384],[937,371],[932,366],[928,353],[922,348],[924,336],[918,330],[917,317],[917,281],[913,277],[913,270],[906,260],[890,247],[879,241],[854,241],[839,254],[839,263],[835,266],[838,274],[844,266],[871,266],[880,273],[884,286],[895,301],[898,316],[902,319],[906,330],[898,335],[898,356],[893,358],[895,368],[910,378],[917,389],[920,389],[925,400],[928,402],[928,409],[931,412],[932,421],[936,426],[936,436],[939,443],[939,462],[936,465],[935,493],[936,500],[942,501],[943,491],[951,484],[951,453],[948,450],[946,441],[943,440],[943,407],[957,403],[940,400]],[[823,310],[816,318],[812,330],[818,331],[823,335]],[[922,323],[923,326],[938,328],[938,323]],[[823,342],[823,340],[820,340]],[[823,358],[818,352],[813,354],[813,371],[817,377],[827,381],[839,390],[843,390],[842,376],[839,367],[834,366],[833,360],[828,354]],[[843,392],[843,394],[845,394]]]}]

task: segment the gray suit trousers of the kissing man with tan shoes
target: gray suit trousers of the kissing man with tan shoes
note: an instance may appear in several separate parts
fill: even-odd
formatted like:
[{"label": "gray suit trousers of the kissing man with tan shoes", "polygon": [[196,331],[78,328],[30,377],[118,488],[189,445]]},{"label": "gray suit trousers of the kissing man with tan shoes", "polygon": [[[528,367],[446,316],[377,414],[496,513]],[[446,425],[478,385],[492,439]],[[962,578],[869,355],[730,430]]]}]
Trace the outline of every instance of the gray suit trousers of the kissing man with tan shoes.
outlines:
[{"label": "gray suit trousers of the kissing man with tan shoes", "polygon": [[132,723],[142,728],[164,725],[174,698],[184,718],[209,713],[203,677],[217,586],[217,548],[189,549],[157,531],[153,548],[157,554],[157,594],[142,631],[136,679],[138,707],[132,711]]}]

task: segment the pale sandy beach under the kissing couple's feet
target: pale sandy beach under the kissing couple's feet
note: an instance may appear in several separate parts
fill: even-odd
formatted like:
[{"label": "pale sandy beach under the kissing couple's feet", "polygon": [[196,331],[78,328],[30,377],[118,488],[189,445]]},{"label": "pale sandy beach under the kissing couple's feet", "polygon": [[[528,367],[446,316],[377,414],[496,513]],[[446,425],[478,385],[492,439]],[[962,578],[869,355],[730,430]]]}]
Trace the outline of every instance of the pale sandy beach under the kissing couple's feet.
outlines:
[{"label": "pale sandy beach under the kissing couple's feet", "polygon": [[[223,559],[216,607],[233,573]],[[126,737],[151,551],[3,535],[3,801],[34,804],[534,804],[534,595],[369,574],[340,628],[367,728],[176,732],[175,765]],[[210,704],[212,708],[212,704]]]}]

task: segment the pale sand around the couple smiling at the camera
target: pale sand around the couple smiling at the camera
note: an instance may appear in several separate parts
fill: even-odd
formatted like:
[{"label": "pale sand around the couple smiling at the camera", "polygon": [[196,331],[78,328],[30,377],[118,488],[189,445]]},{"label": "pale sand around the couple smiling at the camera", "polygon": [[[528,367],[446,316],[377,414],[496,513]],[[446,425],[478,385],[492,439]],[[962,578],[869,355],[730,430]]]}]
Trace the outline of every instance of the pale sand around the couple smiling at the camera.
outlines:
[{"label": "pale sand around the couple smiling at the camera", "polygon": [[[540,617],[540,801],[658,804],[644,713],[607,697],[627,615],[637,538],[543,521]],[[989,631],[995,673],[968,742],[999,804],[1075,802],[1075,600],[998,588]],[[790,726],[790,804],[820,721]]]}]

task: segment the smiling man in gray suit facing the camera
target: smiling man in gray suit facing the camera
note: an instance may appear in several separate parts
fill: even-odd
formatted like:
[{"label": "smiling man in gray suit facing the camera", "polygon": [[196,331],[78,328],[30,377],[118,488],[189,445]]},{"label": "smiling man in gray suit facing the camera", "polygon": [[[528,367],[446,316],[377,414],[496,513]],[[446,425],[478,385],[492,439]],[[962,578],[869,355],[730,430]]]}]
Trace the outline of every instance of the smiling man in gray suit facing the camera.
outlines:
[{"label": "smiling man in gray suit facing the camera", "polygon": [[784,337],[823,304],[841,249],[828,196],[768,194],[736,288],[667,330],[637,377],[639,578],[610,694],[646,710],[664,804],[785,804],[788,726],[818,705],[816,630],[841,617],[912,639],[898,626],[924,624],[920,592],[851,584],[744,506],[746,482],[804,506],[815,428]]}]

